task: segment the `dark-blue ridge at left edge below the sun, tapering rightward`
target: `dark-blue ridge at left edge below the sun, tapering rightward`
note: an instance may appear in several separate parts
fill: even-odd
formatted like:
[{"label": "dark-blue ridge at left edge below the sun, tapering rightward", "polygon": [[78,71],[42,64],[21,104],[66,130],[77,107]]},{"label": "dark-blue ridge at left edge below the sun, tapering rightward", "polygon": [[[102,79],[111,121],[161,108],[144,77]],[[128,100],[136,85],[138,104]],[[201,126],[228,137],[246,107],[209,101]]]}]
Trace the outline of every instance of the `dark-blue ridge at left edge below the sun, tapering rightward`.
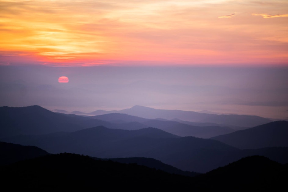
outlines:
[{"label": "dark-blue ridge at left edge below the sun, tapering rightward", "polygon": [[0,107],[0,137],[71,132],[109,122],[51,112],[40,106]]}]

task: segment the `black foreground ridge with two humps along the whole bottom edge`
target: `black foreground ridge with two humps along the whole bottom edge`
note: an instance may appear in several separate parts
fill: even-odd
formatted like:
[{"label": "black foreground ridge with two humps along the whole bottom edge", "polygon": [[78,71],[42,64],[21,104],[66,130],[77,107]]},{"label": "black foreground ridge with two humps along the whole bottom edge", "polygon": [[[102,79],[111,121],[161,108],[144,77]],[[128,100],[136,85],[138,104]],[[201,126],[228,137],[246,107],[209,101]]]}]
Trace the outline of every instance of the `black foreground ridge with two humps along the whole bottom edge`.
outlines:
[{"label": "black foreground ridge with two humps along the whole bottom edge", "polygon": [[279,191],[287,165],[262,156],[242,158],[196,177],[70,153],[0,167],[2,187],[29,191]]}]

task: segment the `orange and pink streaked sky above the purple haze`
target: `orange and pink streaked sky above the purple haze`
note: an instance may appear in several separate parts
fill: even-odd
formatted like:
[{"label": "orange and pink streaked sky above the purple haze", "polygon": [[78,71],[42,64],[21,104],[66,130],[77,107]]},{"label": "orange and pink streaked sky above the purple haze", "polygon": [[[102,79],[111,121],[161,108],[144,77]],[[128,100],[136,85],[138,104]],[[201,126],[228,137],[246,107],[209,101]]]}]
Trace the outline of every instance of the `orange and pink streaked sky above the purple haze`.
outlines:
[{"label": "orange and pink streaked sky above the purple haze", "polygon": [[0,0],[0,64],[288,66],[287,23],[287,0]]}]

